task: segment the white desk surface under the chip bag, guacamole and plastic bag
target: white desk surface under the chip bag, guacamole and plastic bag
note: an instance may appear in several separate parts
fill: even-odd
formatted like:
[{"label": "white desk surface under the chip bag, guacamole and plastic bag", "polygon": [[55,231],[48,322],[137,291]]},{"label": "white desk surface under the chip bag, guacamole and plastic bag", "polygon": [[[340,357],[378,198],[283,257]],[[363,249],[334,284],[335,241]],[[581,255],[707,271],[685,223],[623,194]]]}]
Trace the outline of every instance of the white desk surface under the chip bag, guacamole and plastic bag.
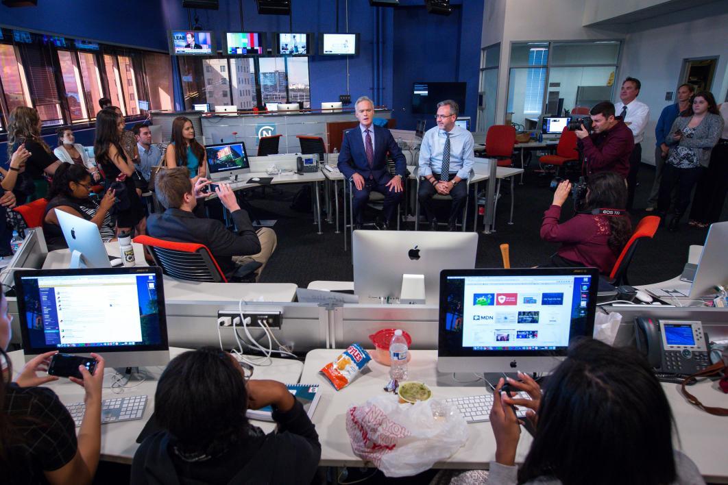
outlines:
[{"label": "white desk surface under the chip bag, guacamole and plastic bag", "polygon": [[[341,353],[339,350],[317,349],[306,355],[301,382],[320,384],[322,394],[313,422],[321,441],[322,466],[361,466],[362,460],[352,453],[346,429],[347,409],[351,405],[364,404],[365,401],[383,393],[389,381],[389,367],[370,361],[369,372],[360,374],[346,388],[336,391],[319,370],[333,361]],[[486,393],[483,387],[438,387],[437,350],[411,350],[412,360],[408,371],[410,380],[419,380],[430,386],[433,398],[478,395]],[[442,375],[442,374],[441,374]],[[668,396],[675,417],[676,429],[681,441],[679,449],[697,465],[707,481],[728,483],[728,460],[724,450],[728,436],[728,420],[711,416],[689,404],[679,393],[676,384],[662,384]],[[704,382],[689,388],[708,406],[724,405],[725,395],[716,382]],[[721,404],[722,403],[722,404]],[[490,422],[480,422],[467,426],[470,438],[467,443],[445,462],[438,462],[434,468],[488,468],[495,457],[495,439]],[[516,462],[523,462],[531,446],[531,435],[525,430],[521,433]],[[676,446],[677,440],[676,440]],[[721,458],[723,456],[723,458]]]}]

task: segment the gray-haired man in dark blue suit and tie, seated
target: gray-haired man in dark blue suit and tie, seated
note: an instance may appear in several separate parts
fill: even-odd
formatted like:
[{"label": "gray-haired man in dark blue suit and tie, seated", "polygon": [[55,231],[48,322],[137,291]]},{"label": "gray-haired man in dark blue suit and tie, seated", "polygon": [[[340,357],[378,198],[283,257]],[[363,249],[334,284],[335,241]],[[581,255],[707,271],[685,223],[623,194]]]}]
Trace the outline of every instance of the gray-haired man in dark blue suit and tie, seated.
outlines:
[{"label": "gray-haired man in dark blue suit and tie, seated", "polygon": [[[356,229],[361,228],[362,208],[369,200],[369,193],[376,191],[384,196],[382,228],[387,229],[392,212],[402,200],[407,163],[392,133],[372,124],[374,103],[362,96],[354,109],[359,126],[344,133],[338,165],[344,177],[354,183],[353,223]],[[395,161],[397,175],[394,177],[387,169],[387,152]]]}]

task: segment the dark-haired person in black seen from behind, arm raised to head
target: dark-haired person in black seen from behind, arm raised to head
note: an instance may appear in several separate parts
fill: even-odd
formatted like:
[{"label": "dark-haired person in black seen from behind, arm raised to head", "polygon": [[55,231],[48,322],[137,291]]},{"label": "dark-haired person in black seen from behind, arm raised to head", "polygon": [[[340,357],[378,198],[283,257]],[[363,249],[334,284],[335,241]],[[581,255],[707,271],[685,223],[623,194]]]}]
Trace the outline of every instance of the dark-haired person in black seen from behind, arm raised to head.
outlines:
[{"label": "dark-haired person in black seen from behind, arm raised to head", "polygon": [[[266,435],[245,410],[269,405],[278,428]],[[280,382],[245,380],[218,348],[170,361],[154,416],[164,431],[139,446],[132,484],[309,484],[318,467],[321,445],[304,406]]]}]

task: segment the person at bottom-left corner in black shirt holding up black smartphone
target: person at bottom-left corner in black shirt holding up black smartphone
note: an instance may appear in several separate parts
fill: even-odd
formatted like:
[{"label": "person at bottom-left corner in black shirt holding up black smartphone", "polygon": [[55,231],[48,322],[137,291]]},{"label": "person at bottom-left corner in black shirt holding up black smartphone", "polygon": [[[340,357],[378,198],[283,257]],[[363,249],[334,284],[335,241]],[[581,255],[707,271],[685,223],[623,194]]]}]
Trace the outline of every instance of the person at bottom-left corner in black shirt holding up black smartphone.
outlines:
[{"label": "person at bottom-left corner in black shirt holding up black smartphone", "polygon": [[39,387],[58,377],[39,377],[55,353],[32,358],[11,382],[10,341],[12,317],[0,292],[0,483],[2,484],[90,484],[96,473],[101,447],[101,383],[104,362],[96,359],[90,374],[79,366],[83,380],[70,379],[84,388],[84,414],[78,438],[76,425],[66,406],[49,388]]}]

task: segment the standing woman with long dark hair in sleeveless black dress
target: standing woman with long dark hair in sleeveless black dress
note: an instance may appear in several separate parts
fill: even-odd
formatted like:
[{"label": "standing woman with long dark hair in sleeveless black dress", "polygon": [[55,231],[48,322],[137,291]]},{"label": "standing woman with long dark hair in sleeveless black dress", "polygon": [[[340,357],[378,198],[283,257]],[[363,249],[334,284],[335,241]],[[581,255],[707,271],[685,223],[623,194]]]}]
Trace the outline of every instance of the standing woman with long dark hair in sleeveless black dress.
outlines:
[{"label": "standing woman with long dark hair in sleeveless black dress", "polygon": [[146,228],[146,213],[137,193],[134,180],[134,164],[122,145],[120,137],[124,129],[124,119],[113,109],[103,109],[96,115],[96,140],[93,151],[96,162],[106,175],[106,190],[116,185],[116,197],[119,188],[123,188],[123,200],[116,207],[116,233],[131,231],[136,228],[137,234],[143,234]]}]

